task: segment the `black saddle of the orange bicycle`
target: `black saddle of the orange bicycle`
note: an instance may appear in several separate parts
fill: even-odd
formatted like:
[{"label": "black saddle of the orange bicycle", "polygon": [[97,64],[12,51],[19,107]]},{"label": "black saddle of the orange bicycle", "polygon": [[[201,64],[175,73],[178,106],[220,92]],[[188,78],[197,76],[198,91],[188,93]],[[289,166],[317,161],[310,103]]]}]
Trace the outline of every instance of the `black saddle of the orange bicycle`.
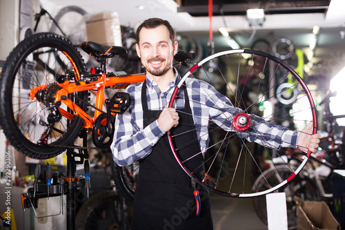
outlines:
[{"label": "black saddle of the orange bicycle", "polygon": [[80,48],[94,57],[114,57],[115,55],[125,55],[127,53],[126,48],[122,46],[108,46],[98,44],[94,41],[84,41],[80,44]]}]

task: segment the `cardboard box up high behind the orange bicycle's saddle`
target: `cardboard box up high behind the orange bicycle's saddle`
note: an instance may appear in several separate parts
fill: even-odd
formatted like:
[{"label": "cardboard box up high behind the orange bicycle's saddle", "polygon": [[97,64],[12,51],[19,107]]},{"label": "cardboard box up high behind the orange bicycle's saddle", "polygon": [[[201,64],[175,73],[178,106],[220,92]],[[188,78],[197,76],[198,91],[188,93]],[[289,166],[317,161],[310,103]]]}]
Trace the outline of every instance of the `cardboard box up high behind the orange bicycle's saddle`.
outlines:
[{"label": "cardboard box up high behind the orange bicycle's saddle", "polygon": [[110,46],[122,46],[121,26],[117,12],[86,15],[84,19],[88,41]]}]

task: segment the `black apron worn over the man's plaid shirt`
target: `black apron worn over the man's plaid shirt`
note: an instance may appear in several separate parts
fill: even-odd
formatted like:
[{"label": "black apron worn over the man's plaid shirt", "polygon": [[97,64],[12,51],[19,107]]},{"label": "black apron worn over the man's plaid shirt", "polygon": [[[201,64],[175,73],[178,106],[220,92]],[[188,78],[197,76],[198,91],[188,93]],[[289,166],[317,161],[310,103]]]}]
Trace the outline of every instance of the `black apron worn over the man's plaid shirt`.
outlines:
[{"label": "black apron worn over the man's plaid shirt", "polygon": [[[146,88],[146,82],[144,82],[141,90],[144,128],[158,119],[161,113],[161,111],[148,111]],[[191,114],[191,109],[185,87],[184,94],[186,97],[185,108],[178,110],[184,112],[179,113],[179,124],[189,125],[178,125],[174,128],[176,133],[195,130],[193,117],[188,115]],[[195,142],[197,140],[196,132],[190,133],[193,133],[190,137],[182,135],[183,137],[175,138],[178,143],[177,147],[188,145],[187,148],[179,150],[179,154],[188,155],[200,152],[199,143]],[[190,144],[190,142],[195,144]],[[139,165],[132,230],[213,229],[209,193],[201,186],[197,186],[201,198],[201,214],[197,216],[191,179],[175,160],[167,134],[152,147],[152,153],[148,157],[139,161]]]}]

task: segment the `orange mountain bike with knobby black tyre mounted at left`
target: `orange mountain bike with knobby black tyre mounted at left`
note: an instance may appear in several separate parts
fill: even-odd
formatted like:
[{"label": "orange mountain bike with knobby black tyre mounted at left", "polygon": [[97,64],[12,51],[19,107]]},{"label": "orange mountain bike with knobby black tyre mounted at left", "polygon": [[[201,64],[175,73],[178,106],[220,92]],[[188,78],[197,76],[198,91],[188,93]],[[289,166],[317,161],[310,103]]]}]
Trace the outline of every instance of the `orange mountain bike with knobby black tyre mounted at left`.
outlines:
[{"label": "orange mountain bike with knobby black tyre mounted at left", "polygon": [[[92,46],[92,43],[88,45]],[[104,88],[126,88],[131,83],[144,81],[144,74],[124,77],[123,73],[118,73],[118,75],[113,74],[107,77],[106,58],[115,54],[125,54],[126,49],[114,47],[106,52],[109,47],[95,46],[94,55],[98,55],[101,67],[97,73],[96,69],[93,69],[95,73],[90,74],[86,73],[77,49],[66,38],[58,35],[51,33],[32,35],[14,48],[1,76],[1,111],[6,111],[7,117],[11,113],[14,115],[14,117],[3,119],[3,129],[9,142],[21,153],[37,159],[58,155],[64,151],[61,145],[69,146],[74,142],[81,128],[91,131],[94,124],[97,124],[98,127],[101,126],[102,120],[106,117],[101,111]],[[85,47],[88,48],[86,44]],[[17,56],[17,52],[19,52],[19,56]],[[34,84],[37,87],[34,87]],[[88,90],[95,88],[99,95],[96,106],[94,106],[95,119],[93,119],[87,113],[89,105],[87,101]],[[26,99],[17,97],[16,93],[19,92],[15,92],[16,89],[21,90],[19,92],[25,94]],[[59,90],[61,90],[61,95],[58,93]],[[75,90],[74,93],[68,93],[73,90]],[[56,95],[59,95],[57,104],[53,102]],[[10,98],[10,102],[6,98]],[[35,100],[30,103],[30,100],[34,98]],[[16,111],[14,104],[15,100],[19,99],[26,100],[26,102],[22,101],[24,109],[19,108],[19,110],[23,110]],[[112,102],[112,104],[114,103]],[[119,105],[119,102],[116,103]],[[59,104],[63,104],[65,107],[61,107]],[[39,110],[37,111],[37,109]],[[121,110],[120,107],[119,109]],[[78,113],[78,116],[75,116],[75,113]],[[100,115],[100,119],[96,121]],[[26,119],[27,117],[29,118]],[[59,128],[54,126],[55,123]],[[108,123],[110,125],[110,122]],[[17,126],[17,129],[9,128],[7,124],[12,127]],[[38,126],[41,128],[49,126],[49,128],[46,131],[39,131]]]}]

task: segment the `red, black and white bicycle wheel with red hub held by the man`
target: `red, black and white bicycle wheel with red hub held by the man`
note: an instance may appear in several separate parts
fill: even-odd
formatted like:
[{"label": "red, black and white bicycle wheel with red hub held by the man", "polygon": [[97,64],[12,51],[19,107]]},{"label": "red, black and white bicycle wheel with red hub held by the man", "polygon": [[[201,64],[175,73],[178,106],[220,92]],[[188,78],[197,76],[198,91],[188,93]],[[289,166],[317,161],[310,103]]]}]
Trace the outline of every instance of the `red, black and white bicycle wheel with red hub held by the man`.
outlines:
[{"label": "red, black and white bicycle wheel with red hub held by the man", "polygon": [[[275,95],[276,89],[280,84],[286,83],[291,75],[296,80],[296,83],[288,90],[296,88],[299,95],[297,95],[295,101],[289,104],[279,103],[277,95]],[[175,106],[175,99],[181,98],[179,93],[183,91],[181,90],[182,86],[186,86],[185,83],[187,81],[192,82],[193,79],[202,79],[212,84],[215,88],[218,87],[218,92],[226,95],[231,103],[238,108],[238,111],[242,113],[242,115],[237,113],[237,116],[245,117],[247,122],[240,124],[244,128],[237,127],[236,129],[235,124],[239,123],[233,122],[233,117],[226,117],[226,111],[221,112],[226,117],[224,118],[224,124],[221,124],[221,126],[226,126],[226,123],[233,124],[230,125],[232,131],[223,131],[219,128],[219,125],[211,121],[208,122],[209,139],[207,142],[209,144],[208,148],[201,150],[204,154],[204,166],[199,165],[199,167],[204,167],[204,173],[201,173],[201,175],[193,173],[197,171],[196,169],[188,168],[187,163],[192,162],[193,157],[184,159],[183,156],[179,155],[179,149],[175,148],[173,140],[175,137],[184,134],[174,133],[172,128],[168,132],[170,147],[177,162],[191,178],[206,189],[221,195],[251,197],[275,191],[299,173],[306,164],[311,153],[310,151],[304,155],[299,155],[297,158],[287,148],[274,151],[268,148],[270,143],[266,142],[266,137],[264,136],[262,136],[262,142],[266,144],[265,147],[254,142],[248,142],[244,138],[250,133],[251,129],[253,130],[258,125],[257,122],[253,122],[253,115],[262,117],[265,121],[273,124],[279,124],[290,130],[297,131],[302,130],[308,122],[313,122],[313,134],[317,132],[317,119],[313,98],[306,84],[292,68],[272,55],[255,50],[219,52],[190,68],[188,73],[177,84],[175,92],[170,99],[170,107]],[[193,90],[188,86],[186,87],[187,90]],[[293,92],[295,93],[295,91]],[[203,95],[202,92],[200,95],[201,98],[208,97],[208,95]],[[210,102],[211,99],[205,100]],[[272,106],[273,102],[275,102],[274,106]],[[189,103],[196,102],[190,99]],[[219,107],[224,106],[221,103],[218,105]],[[199,115],[194,115],[193,118],[203,119]],[[195,126],[196,130],[201,128],[203,127]],[[199,135],[197,138],[202,140],[206,137]],[[199,154],[201,153],[195,153],[195,155]],[[296,157],[300,163],[299,167],[295,170],[291,169],[290,175],[282,178],[281,182],[268,184],[268,189],[252,191],[255,179],[262,175],[262,172],[265,170],[265,163],[275,164],[273,163],[275,157],[283,160],[285,155]],[[265,158],[265,161],[262,160],[263,158]],[[283,161],[283,164],[287,163]]]}]

